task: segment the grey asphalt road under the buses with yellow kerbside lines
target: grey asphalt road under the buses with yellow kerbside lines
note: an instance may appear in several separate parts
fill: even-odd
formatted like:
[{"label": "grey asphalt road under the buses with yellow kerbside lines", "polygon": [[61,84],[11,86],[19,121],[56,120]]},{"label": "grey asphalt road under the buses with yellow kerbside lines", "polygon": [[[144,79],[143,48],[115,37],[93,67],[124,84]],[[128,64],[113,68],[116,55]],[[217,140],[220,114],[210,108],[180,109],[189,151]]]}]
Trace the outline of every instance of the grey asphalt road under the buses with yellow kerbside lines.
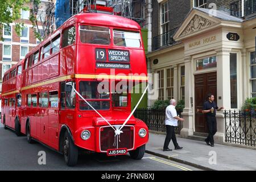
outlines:
[{"label": "grey asphalt road under the buses with yellow kerbside lines", "polygon": [[[82,171],[200,171],[186,164],[173,162],[151,154],[145,154],[142,160],[133,160],[129,154],[108,157],[105,154],[81,154],[75,167],[64,163],[63,155],[50,150],[40,143],[27,143],[25,136],[16,137],[11,130],[0,125],[0,171],[6,170],[82,170]],[[46,164],[42,162],[45,152]]]}]

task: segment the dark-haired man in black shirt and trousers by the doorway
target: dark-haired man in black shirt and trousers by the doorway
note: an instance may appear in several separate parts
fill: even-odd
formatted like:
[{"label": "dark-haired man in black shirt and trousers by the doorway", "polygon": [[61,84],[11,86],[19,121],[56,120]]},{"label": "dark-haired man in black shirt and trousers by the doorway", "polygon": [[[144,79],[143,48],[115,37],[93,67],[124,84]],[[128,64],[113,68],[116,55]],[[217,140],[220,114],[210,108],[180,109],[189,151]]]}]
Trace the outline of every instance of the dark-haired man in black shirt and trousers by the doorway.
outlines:
[{"label": "dark-haired man in black shirt and trousers by the doorway", "polygon": [[209,135],[207,139],[205,139],[205,142],[211,146],[214,147],[214,139],[213,136],[217,132],[217,122],[216,122],[216,110],[220,111],[221,109],[224,109],[224,107],[218,108],[216,102],[214,102],[214,96],[213,94],[208,94],[208,101],[204,102],[202,113],[207,114],[207,125],[209,129]]}]

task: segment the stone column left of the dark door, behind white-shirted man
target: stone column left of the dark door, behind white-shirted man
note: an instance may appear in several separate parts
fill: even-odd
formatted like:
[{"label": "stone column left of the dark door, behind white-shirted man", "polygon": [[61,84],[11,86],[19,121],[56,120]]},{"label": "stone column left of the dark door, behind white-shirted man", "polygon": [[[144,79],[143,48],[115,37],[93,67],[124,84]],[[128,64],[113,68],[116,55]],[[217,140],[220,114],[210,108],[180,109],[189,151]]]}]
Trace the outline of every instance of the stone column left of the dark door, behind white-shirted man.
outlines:
[{"label": "stone column left of the dark door, behind white-shirted man", "polygon": [[184,57],[185,62],[185,108],[183,109],[182,117],[183,129],[180,132],[181,137],[187,138],[188,135],[193,135],[193,109],[191,107],[190,98],[192,97],[192,57]]}]

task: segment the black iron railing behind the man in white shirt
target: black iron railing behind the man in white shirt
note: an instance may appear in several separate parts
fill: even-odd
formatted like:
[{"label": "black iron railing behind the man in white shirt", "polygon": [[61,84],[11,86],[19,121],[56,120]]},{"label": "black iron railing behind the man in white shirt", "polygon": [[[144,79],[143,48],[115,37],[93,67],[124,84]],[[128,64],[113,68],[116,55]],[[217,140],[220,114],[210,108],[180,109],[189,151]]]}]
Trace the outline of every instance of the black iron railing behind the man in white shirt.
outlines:
[{"label": "black iron railing behind the man in white shirt", "polygon": [[[181,113],[178,112],[177,114],[179,114],[181,117]],[[164,119],[166,117],[165,110],[137,109],[134,116],[144,121],[149,130],[166,132],[166,126],[164,125]],[[175,129],[175,133],[180,134],[182,127],[182,122],[178,121],[178,126]]]}]

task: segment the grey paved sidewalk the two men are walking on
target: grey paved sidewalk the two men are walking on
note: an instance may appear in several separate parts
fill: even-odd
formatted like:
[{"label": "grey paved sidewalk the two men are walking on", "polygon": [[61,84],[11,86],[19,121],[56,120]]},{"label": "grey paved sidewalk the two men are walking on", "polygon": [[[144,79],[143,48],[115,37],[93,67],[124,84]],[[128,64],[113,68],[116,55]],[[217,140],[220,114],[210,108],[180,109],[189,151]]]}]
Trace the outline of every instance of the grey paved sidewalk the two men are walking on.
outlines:
[{"label": "grey paved sidewalk the two men are walking on", "polygon": [[163,152],[165,137],[162,134],[150,133],[146,152],[204,170],[256,170],[256,150],[223,144],[214,144],[214,147],[210,147],[205,142],[177,137],[177,142],[183,150],[174,150],[174,144],[171,141],[169,148],[172,151]]}]

